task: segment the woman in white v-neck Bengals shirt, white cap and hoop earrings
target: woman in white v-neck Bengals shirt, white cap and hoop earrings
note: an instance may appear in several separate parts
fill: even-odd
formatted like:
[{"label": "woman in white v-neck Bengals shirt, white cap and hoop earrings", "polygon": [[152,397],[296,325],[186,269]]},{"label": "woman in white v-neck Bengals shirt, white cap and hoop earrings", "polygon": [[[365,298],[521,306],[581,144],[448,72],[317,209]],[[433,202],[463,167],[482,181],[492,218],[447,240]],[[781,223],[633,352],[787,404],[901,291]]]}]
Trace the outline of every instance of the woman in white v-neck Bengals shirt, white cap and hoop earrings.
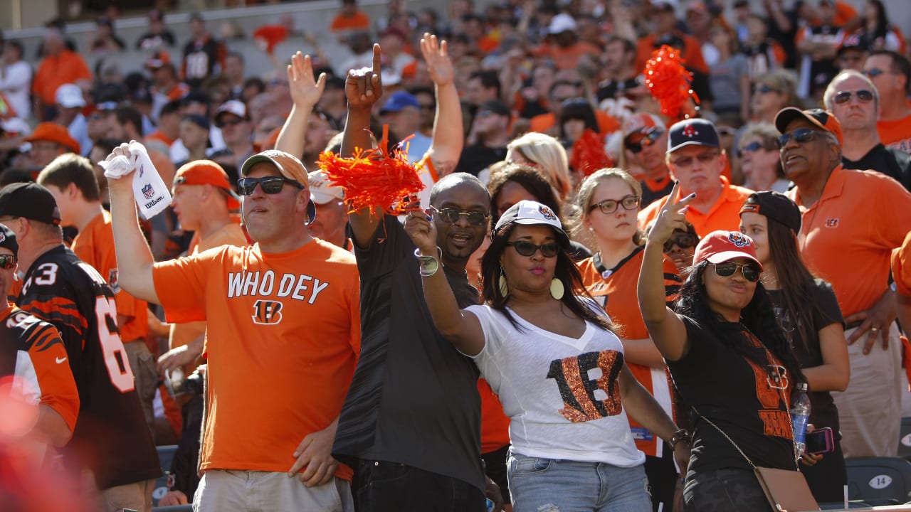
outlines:
[{"label": "woman in white v-neck Bengals shirt, white cap and hoop earrings", "polygon": [[[412,213],[404,228],[436,328],[510,416],[513,509],[650,510],[627,413],[671,445],[684,435],[630,374],[603,310],[572,293],[584,288],[554,212],[523,200],[503,214],[482,261],[484,304],[465,310],[437,271],[433,223]],[[685,466],[689,447],[677,444],[675,456]]]}]

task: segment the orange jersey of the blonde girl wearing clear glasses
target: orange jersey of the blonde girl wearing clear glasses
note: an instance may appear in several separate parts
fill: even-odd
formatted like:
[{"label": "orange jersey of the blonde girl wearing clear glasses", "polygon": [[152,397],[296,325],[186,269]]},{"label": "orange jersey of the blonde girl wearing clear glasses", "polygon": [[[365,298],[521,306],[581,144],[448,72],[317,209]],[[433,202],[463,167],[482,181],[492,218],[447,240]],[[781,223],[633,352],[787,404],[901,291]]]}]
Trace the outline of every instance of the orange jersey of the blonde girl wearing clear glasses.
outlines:
[{"label": "orange jersey of the blonde girl wearing clear glasses", "polygon": [[[639,285],[639,272],[642,268],[642,256],[645,251],[637,250],[630,257],[621,261],[614,269],[604,269],[599,254],[578,262],[582,274],[582,284],[592,297],[598,301],[614,323],[617,335],[625,340],[641,340],[649,337],[649,330],[642,320],[636,290]],[[602,273],[604,272],[604,273]],[[609,272],[608,277],[604,274]],[[681,278],[677,267],[669,259],[664,259],[664,290],[670,301],[679,291]],[[668,415],[673,417],[673,398],[666,367],[651,368],[642,364],[626,362],[630,372],[642,384]],[[660,437],[651,433],[630,416],[630,429],[636,440],[636,447],[647,456],[661,456]]]}]

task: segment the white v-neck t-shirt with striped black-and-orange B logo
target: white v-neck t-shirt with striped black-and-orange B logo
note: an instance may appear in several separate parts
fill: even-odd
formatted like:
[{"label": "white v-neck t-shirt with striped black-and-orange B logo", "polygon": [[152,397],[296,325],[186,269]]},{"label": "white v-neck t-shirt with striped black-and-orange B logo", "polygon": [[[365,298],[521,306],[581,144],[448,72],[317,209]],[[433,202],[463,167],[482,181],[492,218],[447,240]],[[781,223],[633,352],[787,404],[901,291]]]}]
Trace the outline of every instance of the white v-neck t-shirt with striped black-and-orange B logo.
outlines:
[{"label": "white v-neck t-shirt with striped black-and-orange B logo", "polygon": [[510,417],[512,449],[524,456],[638,466],[636,448],[622,409],[619,338],[586,322],[578,339],[540,329],[510,310],[470,306],[484,330],[475,364],[499,395]]}]

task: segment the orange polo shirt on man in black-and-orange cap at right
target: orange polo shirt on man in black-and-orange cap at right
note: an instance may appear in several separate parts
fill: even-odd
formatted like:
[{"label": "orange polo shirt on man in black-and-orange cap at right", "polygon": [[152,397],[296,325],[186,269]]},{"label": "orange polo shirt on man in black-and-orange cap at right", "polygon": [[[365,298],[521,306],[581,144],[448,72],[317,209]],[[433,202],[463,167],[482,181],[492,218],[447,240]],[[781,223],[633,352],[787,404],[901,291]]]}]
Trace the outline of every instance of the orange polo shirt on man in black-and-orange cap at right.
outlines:
[{"label": "orange polo shirt on man in black-and-orange cap at right", "polygon": [[885,174],[835,168],[822,197],[807,208],[798,245],[806,265],[832,284],[844,316],[865,311],[888,286],[892,250],[911,230],[911,192]]}]

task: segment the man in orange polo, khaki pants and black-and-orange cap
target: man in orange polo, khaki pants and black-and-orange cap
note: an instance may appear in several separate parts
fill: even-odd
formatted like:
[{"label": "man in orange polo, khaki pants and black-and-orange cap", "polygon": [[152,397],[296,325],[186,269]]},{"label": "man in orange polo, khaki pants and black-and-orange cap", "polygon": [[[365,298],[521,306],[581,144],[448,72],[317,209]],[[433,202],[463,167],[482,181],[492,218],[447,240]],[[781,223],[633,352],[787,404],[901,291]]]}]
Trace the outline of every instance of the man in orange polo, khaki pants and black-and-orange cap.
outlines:
[{"label": "man in orange polo, khaki pants and black-and-orange cap", "polygon": [[775,128],[784,172],[794,182],[787,195],[803,214],[798,248],[832,283],[846,323],[851,383],[833,393],[844,456],[896,456],[902,403],[911,396],[889,259],[911,230],[911,193],[878,172],[844,169],[842,127],[829,112],[783,108]]}]

